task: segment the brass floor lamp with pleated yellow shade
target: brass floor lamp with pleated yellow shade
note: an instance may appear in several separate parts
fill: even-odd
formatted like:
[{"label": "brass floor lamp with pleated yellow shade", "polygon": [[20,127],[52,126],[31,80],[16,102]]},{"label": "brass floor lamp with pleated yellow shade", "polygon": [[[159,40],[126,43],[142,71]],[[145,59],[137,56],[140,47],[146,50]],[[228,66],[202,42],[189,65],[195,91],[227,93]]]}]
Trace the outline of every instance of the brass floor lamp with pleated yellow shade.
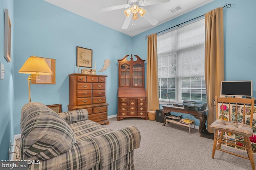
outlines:
[{"label": "brass floor lamp with pleated yellow shade", "polygon": [[34,74],[28,76],[28,101],[31,102],[30,81],[32,77],[52,74],[52,70],[42,58],[31,56],[20,68],[19,73]]}]

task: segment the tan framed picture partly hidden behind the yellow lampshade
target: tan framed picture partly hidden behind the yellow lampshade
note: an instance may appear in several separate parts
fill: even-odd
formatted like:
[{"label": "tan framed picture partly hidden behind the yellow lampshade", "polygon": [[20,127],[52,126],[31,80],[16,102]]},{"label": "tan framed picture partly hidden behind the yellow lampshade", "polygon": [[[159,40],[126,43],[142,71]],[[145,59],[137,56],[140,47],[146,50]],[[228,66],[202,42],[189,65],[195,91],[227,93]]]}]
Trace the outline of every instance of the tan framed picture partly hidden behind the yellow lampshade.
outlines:
[{"label": "tan framed picture partly hidden behind the yellow lampshade", "polygon": [[[39,57],[46,61],[50,69],[52,70],[51,75],[40,75],[39,77],[33,78],[31,80],[31,84],[56,84],[56,78],[55,78],[55,59],[48,59],[44,57]],[[35,76],[31,74],[31,76]]]}]

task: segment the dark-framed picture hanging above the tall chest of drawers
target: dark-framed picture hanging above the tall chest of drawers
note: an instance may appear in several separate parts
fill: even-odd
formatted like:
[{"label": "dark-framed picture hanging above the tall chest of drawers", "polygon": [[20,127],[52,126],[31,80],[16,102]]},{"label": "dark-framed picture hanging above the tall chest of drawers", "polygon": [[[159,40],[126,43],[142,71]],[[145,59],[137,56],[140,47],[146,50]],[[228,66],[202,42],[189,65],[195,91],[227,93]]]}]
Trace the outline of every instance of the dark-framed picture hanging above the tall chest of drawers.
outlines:
[{"label": "dark-framed picture hanging above the tall chest of drawers", "polygon": [[92,68],[92,50],[76,47],[76,66]]}]

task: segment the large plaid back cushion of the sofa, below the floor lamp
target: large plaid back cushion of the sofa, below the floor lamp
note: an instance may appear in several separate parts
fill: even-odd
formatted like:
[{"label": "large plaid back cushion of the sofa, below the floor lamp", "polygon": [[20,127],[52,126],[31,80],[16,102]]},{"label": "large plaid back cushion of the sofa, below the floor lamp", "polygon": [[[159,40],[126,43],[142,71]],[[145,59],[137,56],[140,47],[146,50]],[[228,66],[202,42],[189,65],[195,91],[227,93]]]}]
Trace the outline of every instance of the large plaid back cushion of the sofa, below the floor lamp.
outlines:
[{"label": "large plaid back cushion of the sofa, below the floor lamp", "polygon": [[47,160],[66,152],[76,142],[66,121],[44,104],[28,103],[21,114],[22,160]]}]

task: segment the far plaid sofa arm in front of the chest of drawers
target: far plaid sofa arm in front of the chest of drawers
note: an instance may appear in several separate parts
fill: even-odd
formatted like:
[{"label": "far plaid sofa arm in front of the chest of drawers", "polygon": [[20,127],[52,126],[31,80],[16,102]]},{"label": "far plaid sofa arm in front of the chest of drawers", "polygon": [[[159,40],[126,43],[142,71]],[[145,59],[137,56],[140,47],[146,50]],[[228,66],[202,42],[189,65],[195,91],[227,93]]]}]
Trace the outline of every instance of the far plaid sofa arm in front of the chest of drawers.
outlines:
[{"label": "far plaid sofa arm in front of the chest of drawers", "polygon": [[78,109],[72,111],[66,111],[58,113],[62,119],[64,119],[69,125],[79,121],[88,120],[88,111],[87,109]]}]

